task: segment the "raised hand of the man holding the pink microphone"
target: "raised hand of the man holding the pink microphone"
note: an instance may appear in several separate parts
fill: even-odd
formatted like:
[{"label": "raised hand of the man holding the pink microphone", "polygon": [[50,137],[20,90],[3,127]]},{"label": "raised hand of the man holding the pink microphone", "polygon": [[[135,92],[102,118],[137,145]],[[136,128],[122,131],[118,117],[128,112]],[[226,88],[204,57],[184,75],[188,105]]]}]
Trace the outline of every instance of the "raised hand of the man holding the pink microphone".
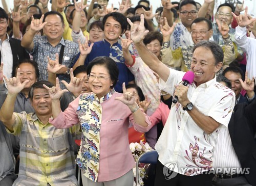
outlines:
[{"label": "raised hand of the man holding the pink microphone", "polygon": [[134,43],[140,43],[145,38],[148,30],[144,27],[144,15],[140,15],[140,24],[134,24],[129,18],[127,18],[128,23],[131,25],[131,39]]}]

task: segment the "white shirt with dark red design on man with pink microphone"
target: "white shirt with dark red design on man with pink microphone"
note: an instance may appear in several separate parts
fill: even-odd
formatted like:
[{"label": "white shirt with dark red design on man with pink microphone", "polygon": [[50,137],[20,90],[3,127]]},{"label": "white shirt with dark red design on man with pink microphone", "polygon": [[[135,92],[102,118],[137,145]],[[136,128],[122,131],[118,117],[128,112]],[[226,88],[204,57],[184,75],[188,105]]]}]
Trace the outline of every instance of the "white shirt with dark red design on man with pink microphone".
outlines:
[{"label": "white shirt with dark red design on man with pink microphone", "polygon": [[[173,95],[175,85],[181,83],[185,72],[170,69],[166,82],[160,79],[159,88]],[[162,134],[155,146],[159,161],[175,165],[179,174],[193,176],[212,168],[212,150],[223,127],[227,127],[233,108],[234,92],[216,82],[216,77],[196,87],[188,87],[188,99],[205,116],[221,125],[207,135],[202,128],[182,109],[179,102],[173,103]]]}]

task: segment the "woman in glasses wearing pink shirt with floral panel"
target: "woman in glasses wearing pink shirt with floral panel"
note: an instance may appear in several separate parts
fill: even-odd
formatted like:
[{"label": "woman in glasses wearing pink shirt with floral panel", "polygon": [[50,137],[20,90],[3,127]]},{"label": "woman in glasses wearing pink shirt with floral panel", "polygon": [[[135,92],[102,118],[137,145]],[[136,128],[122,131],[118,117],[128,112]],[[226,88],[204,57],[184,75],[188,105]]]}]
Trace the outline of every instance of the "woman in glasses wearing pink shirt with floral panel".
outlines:
[{"label": "woman in glasses wearing pink shirt with floral panel", "polygon": [[59,97],[66,90],[60,90],[58,80],[57,87],[48,88],[54,118],[51,123],[68,128],[80,122],[83,135],[76,163],[82,170],[83,185],[133,185],[129,120],[144,132],[151,127],[150,119],[139,109],[134,92],[126,92],[124,84],[123,94],[113,89],[118,81],[114,60],[95,58],[89,63],[87,74],[92,93],[81,94],[65,112],[60,110]]}]

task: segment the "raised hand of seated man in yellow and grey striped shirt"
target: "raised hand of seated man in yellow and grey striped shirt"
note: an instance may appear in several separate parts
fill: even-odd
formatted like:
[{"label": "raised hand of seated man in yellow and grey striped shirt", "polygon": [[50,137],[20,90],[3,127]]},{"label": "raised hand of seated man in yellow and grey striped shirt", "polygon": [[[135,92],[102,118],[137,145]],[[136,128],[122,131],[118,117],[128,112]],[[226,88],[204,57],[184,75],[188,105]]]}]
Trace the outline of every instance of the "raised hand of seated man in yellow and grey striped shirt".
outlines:
[{"label": "raised hand of seated man in yellow and grey striped shirt", "polygon": [[[2,66],[2,64],[1,64]],[[7,78],[4,75],[5,82],[7,84],[8,94],[18,94],[20,91],[24,89],[24,87],[29,83],[29,80],[26,80],[23,83],[20,83],[20,69],[17,69],[16,77]]]}]

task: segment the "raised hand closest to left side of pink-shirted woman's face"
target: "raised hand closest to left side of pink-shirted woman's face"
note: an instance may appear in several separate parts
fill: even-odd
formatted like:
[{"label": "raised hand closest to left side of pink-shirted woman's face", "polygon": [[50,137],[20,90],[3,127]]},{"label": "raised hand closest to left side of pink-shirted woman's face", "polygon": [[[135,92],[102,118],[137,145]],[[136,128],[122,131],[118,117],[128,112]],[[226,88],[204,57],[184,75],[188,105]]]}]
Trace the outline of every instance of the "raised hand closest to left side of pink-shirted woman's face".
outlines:
[{"label": "raised hand closest to left side of pink-shirted woman's face", "polygon": [[86,75],[84,75],[81,79],[74,77],[73,69],[70,69],[70,83],[68,84],[66,81],[62,80],[61,82],[66,86],[66,88],[74,95],[79,96],[82,92],[82,84]]}]

